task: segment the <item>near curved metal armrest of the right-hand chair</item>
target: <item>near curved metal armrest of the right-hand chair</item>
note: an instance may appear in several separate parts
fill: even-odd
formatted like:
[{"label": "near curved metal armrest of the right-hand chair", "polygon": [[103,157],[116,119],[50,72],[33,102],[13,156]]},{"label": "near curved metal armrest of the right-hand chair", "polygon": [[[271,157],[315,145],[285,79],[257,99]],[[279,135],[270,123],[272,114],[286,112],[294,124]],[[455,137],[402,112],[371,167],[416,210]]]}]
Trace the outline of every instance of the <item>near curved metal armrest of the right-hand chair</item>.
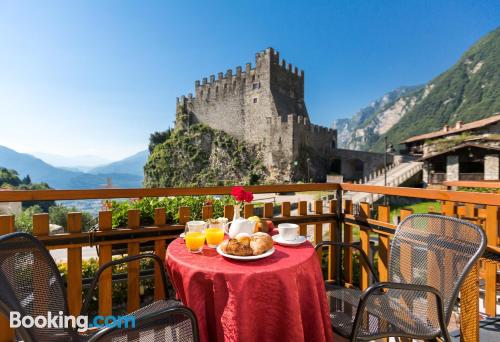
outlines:
[{"label": "near curved metal armrest of the right-hand chair", "polygon": [[[446,341],[451,341],[448,330],[445,323],[445,315],[444,315],[444,303],[441,297],[441,293],[434,287],[428,285],[418,285],[418,284],[405,284],[405,283],[393,283],[393,282],[381,282],[375,283],[368,287],[360,297],[358,309],[356,311],[356,317],[354,318],[353,330],[352,330],[352,338],[355,339],[358,333],[358,330],[361,325],[363,311],[367,305],[367,300],[370,296],[380,295],[380,292],[383,289],[396,289],[396,290],[404,290],[404,291],[413,291],[413,292],[427,292],[434,295],[436,298],[437,304],[437,314],[439,320],[439,326],[441,328],[441,332],[443,333]],[[377,293],[378,292],[378,293]]]}]

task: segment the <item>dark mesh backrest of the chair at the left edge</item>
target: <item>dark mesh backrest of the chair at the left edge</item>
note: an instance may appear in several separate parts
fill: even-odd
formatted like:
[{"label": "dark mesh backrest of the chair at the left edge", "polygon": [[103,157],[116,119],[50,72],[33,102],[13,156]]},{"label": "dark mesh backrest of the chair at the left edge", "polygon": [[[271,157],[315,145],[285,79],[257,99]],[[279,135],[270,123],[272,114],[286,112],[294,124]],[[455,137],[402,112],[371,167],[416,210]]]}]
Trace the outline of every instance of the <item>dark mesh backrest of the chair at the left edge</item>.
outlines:
[{"label": "dark mesh backrest of the chair at the left edge", "polygon": [[[0,237],[0,308],[7,317],[67,315],[65,287],[57,266],[45,246],[26,233]],[[73,329],[18,328],[24,339],[34,341],[70,340]]]}]

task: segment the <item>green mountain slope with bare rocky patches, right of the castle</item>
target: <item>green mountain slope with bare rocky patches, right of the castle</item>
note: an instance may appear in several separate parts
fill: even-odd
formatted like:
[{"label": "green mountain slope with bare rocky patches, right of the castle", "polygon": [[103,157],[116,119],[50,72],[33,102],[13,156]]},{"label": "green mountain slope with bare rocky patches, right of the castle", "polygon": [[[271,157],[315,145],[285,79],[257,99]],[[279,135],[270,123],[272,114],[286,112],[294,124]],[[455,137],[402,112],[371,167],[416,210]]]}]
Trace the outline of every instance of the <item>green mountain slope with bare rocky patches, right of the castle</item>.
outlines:
[{"label": "green mountain slope with bare rocky patches, right of the castle", "polygon": [[[392,101],[383,101],[384,96],[351,119],[336,120],[333,126],[338,130],[340,146],[383,151],[385,136],[397,145],[408,137],[439,130],[445,124],[452,125],[458,120],[470,122],[499,112],[499,89],[500,28],[497,28],[425,86],[391,92]],[[360,114],[365,112],[369,114]]]}]

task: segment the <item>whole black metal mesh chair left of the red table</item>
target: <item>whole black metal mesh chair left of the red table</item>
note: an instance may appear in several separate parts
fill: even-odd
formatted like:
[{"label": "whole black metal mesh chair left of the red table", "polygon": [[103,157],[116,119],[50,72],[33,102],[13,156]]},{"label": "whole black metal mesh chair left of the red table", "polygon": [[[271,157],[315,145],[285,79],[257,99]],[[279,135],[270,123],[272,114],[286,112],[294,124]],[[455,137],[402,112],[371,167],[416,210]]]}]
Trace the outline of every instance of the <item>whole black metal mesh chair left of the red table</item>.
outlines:
[{"label": "whole black metal mesh chair left of the red table", "polygon": [[[107,268],[143,258],[152,258],[162,269],[161,258],[140,254],[109,262],[99,268],[85,296],[81,315],[86,315],[92,293],[100,274]],[[162,276],[164,293],[167,280]],[[9,317],[18,311],[21,316],[68,315],[66,290],[57,266],[44,245],[25,233],[0,237],[0,313]],[[135,327],[102,328],[79,333],[75,328],[48,327],[16,329],[16,336],[31,341],[198,341],[198,324],[194,313],[175,300],[160,300],[131,314]]]}]

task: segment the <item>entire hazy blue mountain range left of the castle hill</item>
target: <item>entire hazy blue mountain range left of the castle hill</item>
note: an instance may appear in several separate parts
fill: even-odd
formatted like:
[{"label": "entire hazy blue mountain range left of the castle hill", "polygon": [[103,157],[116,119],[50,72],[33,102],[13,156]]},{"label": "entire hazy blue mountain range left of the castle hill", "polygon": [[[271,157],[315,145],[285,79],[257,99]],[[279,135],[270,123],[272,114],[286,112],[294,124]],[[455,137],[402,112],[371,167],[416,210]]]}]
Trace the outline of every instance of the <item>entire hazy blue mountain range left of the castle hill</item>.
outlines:
[{"label": "entire hazy blue mountain range left of the castle hill", "polygon": [[115,187],[142,187],[142,167],[146,159],[147,152],[141,151],[123,160],[82,172],[55,167],[31,154],[0,146],[0,166],[16,170],[21,177],[29,174],[33,182],[46,182],[55,189],[100,188],[107,185],[109,178]]}]

